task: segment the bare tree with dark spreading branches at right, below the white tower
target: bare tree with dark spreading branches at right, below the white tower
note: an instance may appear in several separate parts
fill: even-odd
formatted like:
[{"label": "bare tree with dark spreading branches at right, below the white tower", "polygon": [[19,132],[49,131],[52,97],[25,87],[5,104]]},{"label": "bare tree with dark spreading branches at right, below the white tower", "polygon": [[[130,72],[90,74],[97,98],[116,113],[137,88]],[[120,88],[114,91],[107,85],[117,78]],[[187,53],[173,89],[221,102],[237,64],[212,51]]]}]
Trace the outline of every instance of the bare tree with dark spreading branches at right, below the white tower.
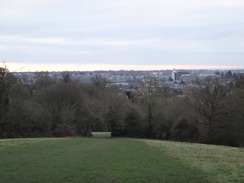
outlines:
[{"label": "bare tree with dark spreading branches at right, below the white tower", "polygon": [[212,141],[216,130],[227,128],[230,113],[230,90],[218,79],[207,79],[199,83],[192,91],[192,106],[202,117],[208,133],[208,140]]}]

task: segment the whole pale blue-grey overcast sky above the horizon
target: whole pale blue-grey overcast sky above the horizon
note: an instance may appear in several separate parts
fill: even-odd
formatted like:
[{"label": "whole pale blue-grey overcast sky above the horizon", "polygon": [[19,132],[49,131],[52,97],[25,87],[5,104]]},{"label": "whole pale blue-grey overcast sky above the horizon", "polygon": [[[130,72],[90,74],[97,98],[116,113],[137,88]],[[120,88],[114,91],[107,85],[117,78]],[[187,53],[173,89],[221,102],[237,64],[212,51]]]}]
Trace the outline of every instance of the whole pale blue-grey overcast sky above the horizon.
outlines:
[{"label": "whole pale blue-grey overcast sky above the horizon", "polygon": [[244,1],[0,0],[0,59],[25,70],[244,68]]}]

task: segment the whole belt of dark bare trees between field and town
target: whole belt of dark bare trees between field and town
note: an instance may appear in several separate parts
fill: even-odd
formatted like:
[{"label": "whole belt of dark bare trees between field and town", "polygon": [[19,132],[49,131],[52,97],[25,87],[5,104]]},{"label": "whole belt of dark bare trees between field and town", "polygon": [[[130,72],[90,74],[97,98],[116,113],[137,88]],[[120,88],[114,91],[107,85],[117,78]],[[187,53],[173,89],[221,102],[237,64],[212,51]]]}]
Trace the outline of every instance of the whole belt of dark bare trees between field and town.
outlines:
[{"label": "whole belt of dark bare trees between field and town", "polygon": [[232,84],[205,79],[183,92],[155,79],[123,91],[95,76],[79,83],[36,73],[23,85],[0,76],[0,138],[112,136],[244,146],[244,77]]}]

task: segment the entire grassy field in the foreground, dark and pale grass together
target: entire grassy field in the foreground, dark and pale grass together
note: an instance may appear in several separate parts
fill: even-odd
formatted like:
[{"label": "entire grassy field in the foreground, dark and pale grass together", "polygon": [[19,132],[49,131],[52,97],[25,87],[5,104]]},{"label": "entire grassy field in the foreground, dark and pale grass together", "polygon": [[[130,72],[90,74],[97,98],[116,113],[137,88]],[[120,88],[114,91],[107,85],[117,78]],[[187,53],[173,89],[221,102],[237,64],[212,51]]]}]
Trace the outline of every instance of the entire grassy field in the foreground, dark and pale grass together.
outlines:
[{"label": "entire grassy field in the foreground, dark and pale grass together", "polygon": [[243,171],[243,148],[121,138],[0,140],[1,183],[243,182]]}]

